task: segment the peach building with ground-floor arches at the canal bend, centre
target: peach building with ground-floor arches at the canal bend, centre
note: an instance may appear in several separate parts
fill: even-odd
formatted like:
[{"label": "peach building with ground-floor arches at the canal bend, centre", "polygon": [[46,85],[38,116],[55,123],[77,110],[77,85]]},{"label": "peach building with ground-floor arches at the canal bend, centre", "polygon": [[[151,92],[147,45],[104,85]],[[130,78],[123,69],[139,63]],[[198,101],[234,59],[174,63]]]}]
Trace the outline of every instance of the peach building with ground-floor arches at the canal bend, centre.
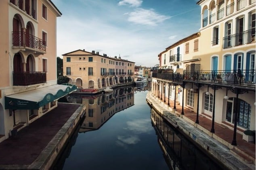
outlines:
[{"label": "peach building with ground-floor arches at the canal bend, centre", "polygon": [[99,90],[134,81],[134,62],[99,52],[76,50],[63,54],[63,75],[82,91]]}]

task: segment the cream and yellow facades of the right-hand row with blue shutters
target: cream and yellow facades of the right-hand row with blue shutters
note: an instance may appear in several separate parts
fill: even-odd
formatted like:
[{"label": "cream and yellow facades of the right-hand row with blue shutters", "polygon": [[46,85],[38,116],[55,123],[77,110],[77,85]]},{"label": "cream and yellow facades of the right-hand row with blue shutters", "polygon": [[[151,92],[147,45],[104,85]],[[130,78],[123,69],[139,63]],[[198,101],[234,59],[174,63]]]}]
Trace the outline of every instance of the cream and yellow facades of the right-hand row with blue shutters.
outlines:
[{"label": "cream and yellow facades of the right-hand row with blue shutters", "polygon": [[[164,70],[153,72],[152,91],[161,97],[174,89],[171,99],[196,112],[195,123],[201,115],[212,120],[211,133],[215,133],[214,122],[232,129],[231,144],[237,145],[236,132],[256,128],[255,0],[200,0],[197,4],[201,6],[200,32],[177,41],[180,50],[174,44],[159,54]],[[173,56],[172,49],[182,54],[181,61],[176,56],[166,61]]]}]

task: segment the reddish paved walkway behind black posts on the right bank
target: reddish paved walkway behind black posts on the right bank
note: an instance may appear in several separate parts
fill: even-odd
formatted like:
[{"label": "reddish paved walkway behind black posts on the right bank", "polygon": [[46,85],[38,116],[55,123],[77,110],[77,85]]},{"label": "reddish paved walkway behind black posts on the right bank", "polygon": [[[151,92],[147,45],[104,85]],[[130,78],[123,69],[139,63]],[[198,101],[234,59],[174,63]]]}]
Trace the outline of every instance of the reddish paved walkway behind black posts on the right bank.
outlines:
[{"label": "reddish paved walkway behind black posts on the right bank", "polygon": [[[153,95],[153,94],[151,94]],[[164,102],[164,96],[161,96],[158,98],[158,94],[154,95],[159,101],[163,102],[166,104],[166,107],[168,106],[168,97],[166,97],[166,101]],[[174,101],[169,100],[170,108],[174,108]],[[191,123],[194,123],[196,120],[196,113],[193,112],[193,110],[189,110],[187,108],[184,108],[184,115],[183,117],[188,118],[191,120]],[[179,114],[177,116],[181,116],[181,111],[182,111],[182,106],[178,105],[176,102],[176,114]],[[212,120],[204,116],[203,114],[199,114],[199,126],[203,127],[208,133],[210,133],[210,130],[212,129]],[[223,124],[218,124],[214,123],[214,130],[216,135],[221,143],[226,143],[229,146],[227,147],[233,147],[231,151],[233,151],[234,155],[239,157],[241,160],[243,160],[246,163],[251,163],[255,165],[255,144],[253,142],[247,142],[243,140],[243,135],[236,133],[236,141],[237,141],[237,146],[232,146],[231,142],[233,141],[233,130],[229,129],[227,126]]]}]

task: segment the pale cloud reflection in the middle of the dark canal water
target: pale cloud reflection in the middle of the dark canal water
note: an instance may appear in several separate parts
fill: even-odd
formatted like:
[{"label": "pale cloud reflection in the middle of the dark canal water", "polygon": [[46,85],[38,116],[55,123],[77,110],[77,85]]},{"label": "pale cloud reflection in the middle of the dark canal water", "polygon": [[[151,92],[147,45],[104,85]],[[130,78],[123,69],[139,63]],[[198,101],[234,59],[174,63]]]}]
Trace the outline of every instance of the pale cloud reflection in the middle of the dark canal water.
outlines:
[{"label": "pale cloud reflection in the middle of the dark canal water", "polygon": [[139,141],[141,141],[138,134],[149,133],[150,131],[153,131],[152,127],[149,126],[150,122],[150,119],[136,119],[132,121],[127,121],[127,127],[124,127],[124,129],[130,131],[128,133],[131,135],[118,135],[118,140],[116,141],[116,144],[118,146],[127,148],[126,145],[134,145],[138,143]]}]

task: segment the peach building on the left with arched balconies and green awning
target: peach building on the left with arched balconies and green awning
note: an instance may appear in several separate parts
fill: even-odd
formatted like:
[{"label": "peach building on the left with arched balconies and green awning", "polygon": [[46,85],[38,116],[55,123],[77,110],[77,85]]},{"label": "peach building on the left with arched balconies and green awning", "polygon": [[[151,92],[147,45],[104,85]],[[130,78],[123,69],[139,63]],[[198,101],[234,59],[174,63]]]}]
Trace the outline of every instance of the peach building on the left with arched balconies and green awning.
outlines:
[{"label": "peach building on the left with arched balconies and green awning", "polygon": [[50,0],[1,0],[0,142],[58,105],[75,86],[57,85],[56,21]]}]

